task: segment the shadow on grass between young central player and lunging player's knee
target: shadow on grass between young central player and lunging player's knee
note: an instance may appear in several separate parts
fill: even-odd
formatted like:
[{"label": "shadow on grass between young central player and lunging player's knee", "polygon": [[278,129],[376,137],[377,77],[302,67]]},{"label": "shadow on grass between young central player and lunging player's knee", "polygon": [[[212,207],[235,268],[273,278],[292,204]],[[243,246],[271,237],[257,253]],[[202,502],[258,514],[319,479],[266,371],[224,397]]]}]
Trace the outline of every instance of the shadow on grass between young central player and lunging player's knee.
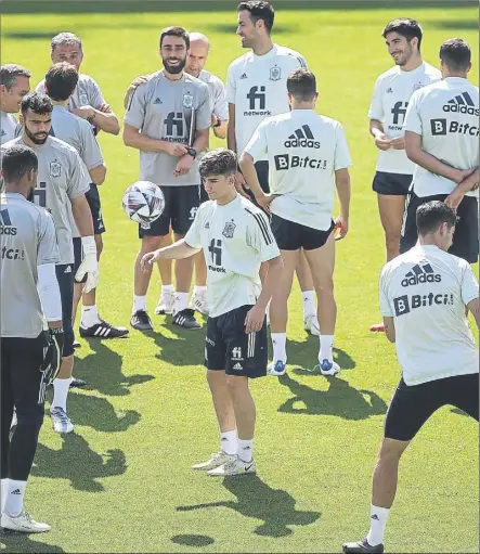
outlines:
[{"label": "shadow on grass between young central player and lunging player's knee", "polygon": [[[299,373],[299,371],[298,371]],[[319,375],[317,378],[325,378]],[[384,415],[387,404],[372,390],[356,390],[347,381],[326,377],[328,390],[310,388],[293,379],[288,373],[278,377],[278,383],[295,395],[284,402],[278,412],[307,415],[336,415],[343,420],[366,420],[372,415]]]}]

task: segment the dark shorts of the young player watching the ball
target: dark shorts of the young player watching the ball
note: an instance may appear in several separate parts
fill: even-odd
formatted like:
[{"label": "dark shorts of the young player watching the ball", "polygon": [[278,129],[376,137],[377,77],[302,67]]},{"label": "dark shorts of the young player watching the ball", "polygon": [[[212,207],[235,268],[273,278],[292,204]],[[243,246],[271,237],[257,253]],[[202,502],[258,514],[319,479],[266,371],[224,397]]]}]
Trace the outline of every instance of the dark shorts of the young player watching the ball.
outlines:
[{"label": "dark shorts of the young player watching the ball", "polygon": [[208,318],[205,338],[205,366],[238,377],[267,375],[267,320],[258,333],[245,333],[245,318],[251,306],[242,306]]}]

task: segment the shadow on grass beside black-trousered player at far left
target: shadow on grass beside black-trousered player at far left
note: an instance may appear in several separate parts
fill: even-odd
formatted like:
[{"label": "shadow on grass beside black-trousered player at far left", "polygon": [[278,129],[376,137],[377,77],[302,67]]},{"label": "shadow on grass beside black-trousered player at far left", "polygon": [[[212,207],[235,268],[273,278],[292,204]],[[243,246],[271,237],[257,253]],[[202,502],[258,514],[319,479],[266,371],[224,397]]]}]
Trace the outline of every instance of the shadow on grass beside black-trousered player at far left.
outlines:
[{"label": "shadow on grass beside black-trousered player at far left", "polygon": [[127,471],[125,454],[109,449],[105,454],[92,450],[83,437],[76,433],[63,435],[61,450],[38,445],[31,474],[50,479],[69,479],[74,489],[102,492],[96,479],[122,475]]}]

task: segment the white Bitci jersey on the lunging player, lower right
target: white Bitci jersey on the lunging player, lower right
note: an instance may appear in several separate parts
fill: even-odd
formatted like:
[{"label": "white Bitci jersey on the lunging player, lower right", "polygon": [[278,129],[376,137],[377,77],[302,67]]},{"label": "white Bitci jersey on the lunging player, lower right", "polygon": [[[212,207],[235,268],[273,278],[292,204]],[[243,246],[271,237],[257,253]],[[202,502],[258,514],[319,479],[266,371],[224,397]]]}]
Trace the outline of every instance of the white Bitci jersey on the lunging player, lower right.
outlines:
[{"label": "white Bitci jersey on the lunging player, lower right", "polygon": [[479,352],[465,317],[465,306],[478,297],[468,262],[433,245],[417,245],[384,267],[380,309],[394,318],[406,385],[478,373]]}]

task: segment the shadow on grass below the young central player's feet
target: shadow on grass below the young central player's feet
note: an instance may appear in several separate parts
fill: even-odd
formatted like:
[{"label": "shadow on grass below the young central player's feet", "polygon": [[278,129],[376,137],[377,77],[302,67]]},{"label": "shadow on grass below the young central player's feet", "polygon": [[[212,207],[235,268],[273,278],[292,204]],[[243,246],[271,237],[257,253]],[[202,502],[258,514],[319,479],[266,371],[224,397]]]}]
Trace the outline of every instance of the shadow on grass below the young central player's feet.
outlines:
[{"label": "shadow on grass below the young central player's feet", "polygon": [[296,510],[297,501],[285,490],[272,489],[257,475],[225,477],[222,482],[236,501],[209,502],[192,506],[178,506],[178,512],[192,512],[210,507],[229,507],[245,517],[262,519],[263,523],[255,529],[261,537],[288,537],[294,531],[293,526],[314,524],[320,512]]}]

